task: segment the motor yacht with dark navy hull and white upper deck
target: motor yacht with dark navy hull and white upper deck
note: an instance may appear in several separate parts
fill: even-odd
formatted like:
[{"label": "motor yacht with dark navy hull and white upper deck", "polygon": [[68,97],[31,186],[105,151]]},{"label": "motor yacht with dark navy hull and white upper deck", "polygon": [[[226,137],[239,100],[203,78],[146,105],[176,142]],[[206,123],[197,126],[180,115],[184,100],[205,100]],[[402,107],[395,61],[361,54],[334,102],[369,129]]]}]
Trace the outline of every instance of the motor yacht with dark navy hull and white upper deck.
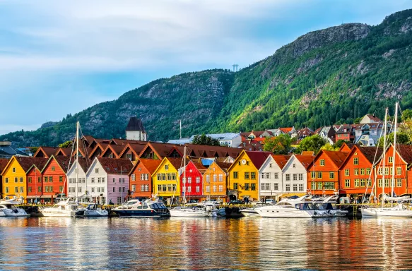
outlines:
[{"label": "motor yacht with dark navy hull and white upper deck", "polygon": [[130,200],[126,204],[114,208],[113,211],[119,217],[170,217],[169,210],[158,198],[149,198],[140,205],[136,204],[136,200]]}]

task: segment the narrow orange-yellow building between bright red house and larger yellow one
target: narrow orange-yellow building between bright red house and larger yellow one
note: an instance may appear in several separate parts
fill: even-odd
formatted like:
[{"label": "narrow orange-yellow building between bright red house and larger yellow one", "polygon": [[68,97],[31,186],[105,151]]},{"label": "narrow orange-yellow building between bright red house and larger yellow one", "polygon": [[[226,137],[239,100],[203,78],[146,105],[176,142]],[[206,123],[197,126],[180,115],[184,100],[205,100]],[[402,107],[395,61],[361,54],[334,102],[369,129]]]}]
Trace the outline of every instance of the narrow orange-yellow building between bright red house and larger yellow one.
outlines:
[{"label": "narrow orange-yellow building between bright red house and larger yellow one", "polygon": [[232,164],[213,162],[203,174],[203,195],[206,198],[227,200],[228,168]]}]

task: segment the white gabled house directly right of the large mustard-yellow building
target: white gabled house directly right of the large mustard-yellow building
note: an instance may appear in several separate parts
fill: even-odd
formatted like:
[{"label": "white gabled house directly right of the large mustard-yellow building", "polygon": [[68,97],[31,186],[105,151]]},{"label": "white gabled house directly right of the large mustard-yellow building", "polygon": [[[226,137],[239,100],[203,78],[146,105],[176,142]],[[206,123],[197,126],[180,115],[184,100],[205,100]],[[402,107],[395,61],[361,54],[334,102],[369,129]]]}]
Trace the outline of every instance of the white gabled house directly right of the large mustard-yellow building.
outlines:
[{"label": "white gabled house directly right of the large mustard-yellow building", "polygon": [[259,200],[283,194],[282,169],[290,155],[269,155],[259,169]]}]

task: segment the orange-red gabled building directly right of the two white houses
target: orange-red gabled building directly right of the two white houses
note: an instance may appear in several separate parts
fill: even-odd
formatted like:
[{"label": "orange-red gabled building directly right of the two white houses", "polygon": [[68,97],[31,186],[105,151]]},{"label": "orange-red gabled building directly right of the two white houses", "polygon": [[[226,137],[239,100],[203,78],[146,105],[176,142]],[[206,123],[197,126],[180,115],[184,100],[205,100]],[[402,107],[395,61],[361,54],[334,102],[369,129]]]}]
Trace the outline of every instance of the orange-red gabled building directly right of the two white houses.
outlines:
[{"label": "orange-red gabled building directly right of the two white houses", "polygon": [[334,195],[339,191],[339,168],[348,152],[321,150],[307,171],[307,189],[313,195]]}]

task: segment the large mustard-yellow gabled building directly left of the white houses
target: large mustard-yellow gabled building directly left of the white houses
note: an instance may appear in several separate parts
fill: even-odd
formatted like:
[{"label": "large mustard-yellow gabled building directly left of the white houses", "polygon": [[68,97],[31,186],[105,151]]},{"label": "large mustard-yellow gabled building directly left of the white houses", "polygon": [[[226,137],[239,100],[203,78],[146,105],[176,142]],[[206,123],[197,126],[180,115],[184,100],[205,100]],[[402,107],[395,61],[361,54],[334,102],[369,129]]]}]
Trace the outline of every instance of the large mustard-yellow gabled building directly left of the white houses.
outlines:
[{"label": "large mustard-yellow gabled building directly left of the white houses", "polygon": [[243,150],[228,169],[230,199],[259,198],[259,168],[272,152]]}]

